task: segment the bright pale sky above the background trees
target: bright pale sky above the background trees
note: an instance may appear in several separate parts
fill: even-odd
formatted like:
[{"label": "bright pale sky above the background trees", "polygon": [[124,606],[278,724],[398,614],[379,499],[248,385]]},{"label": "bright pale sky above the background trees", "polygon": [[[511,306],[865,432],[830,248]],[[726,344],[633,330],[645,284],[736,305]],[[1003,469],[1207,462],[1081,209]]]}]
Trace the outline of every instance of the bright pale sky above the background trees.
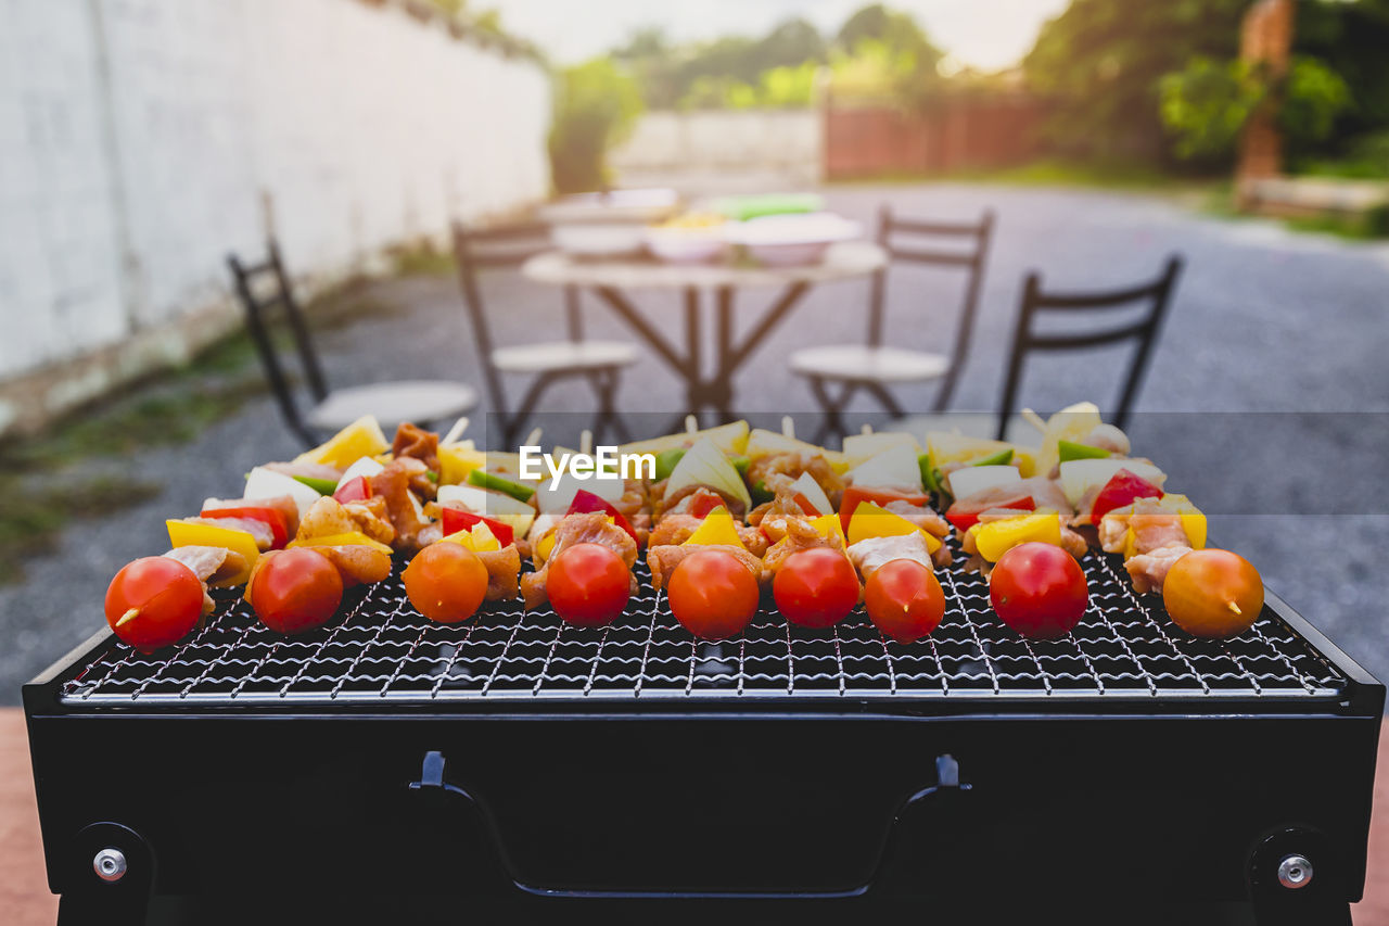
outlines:
[{"label": "bright pale sky above the background trees", "polygon": [[[501,22],[571,64],[607,51],[639,28],[658,25],[675,42],[765,35],[796,15],[831,35],[868,0],[469,0],[496,7]],[[1017,64],[1042,24],[1070,0],[889,0],[961,64],[996,71]]]}]

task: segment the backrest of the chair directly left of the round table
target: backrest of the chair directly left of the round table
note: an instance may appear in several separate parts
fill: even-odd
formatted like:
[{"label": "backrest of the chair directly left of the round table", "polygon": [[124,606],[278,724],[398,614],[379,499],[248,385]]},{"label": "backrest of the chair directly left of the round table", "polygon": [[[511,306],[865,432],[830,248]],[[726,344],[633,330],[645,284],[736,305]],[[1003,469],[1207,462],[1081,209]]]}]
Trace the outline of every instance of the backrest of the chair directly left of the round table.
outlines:
[{"label": "backrest of the chair directly left of the round table", "polygon": [[[453,222],[453,253],[458,264],[458,288],[468,310],[474,339],[478,345],[478,360],[492,393],[492,405],[497,412],[506,410],[501,373],[493,363],[492,352],[496,342],[488,313],[482,302],[479,271],[490,267],[519,267],[529,257],[553,247],[550,228],[540,222],[501,225],[493,228],[471,228],[460,221]],[[583,320],[579,314],[579,292],[574,286],[564,288],[565,324],[571,341],[583,338]]]}]

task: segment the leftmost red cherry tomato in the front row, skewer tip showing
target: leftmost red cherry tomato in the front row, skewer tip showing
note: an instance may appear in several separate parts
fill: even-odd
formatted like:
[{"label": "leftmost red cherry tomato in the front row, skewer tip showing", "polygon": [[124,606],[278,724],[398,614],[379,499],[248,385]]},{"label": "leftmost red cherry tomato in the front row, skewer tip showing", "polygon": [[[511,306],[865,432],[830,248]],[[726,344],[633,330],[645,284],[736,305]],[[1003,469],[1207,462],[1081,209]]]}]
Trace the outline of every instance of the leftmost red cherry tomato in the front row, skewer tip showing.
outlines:
[{"label": "leftmost red cherry tomato in the front row, skewer tip showing", "polygon": [[106,623],[136,649],[175,644],[203,616],[203,583],[168,556],[126,563],[106,590]]}]

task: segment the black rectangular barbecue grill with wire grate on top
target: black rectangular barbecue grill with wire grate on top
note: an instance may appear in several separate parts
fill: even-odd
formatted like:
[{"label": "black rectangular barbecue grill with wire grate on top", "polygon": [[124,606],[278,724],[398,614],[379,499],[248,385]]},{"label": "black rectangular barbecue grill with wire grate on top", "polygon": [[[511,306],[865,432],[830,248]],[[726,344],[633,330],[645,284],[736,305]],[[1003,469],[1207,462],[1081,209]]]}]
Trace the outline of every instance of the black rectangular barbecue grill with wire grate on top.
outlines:
[{"label": "black rectangular barbecue grill with wire grate on top", "polygon": [[1272,595],[1201,641],[1120,560],[1083,567],[1058,641],[1018,638],[958,566],[910,647],[861,610],[693,641],[642,566],[606,628],[510,602],[433,624],[397,569],[306,637],[232,594],[169,651],[103,631],[25,687],[60,919],[365,879],[528,909],[1006,886],[1349,923],[1383,687]]}]

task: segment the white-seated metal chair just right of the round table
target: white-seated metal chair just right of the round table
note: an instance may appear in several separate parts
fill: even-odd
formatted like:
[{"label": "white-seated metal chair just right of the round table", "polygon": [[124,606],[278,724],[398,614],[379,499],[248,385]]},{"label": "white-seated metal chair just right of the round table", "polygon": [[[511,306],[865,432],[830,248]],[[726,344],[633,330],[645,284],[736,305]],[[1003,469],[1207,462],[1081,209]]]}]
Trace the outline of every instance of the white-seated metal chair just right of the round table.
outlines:
[{"label": "white-seated metal chair just right of the round table", "polygon": [[[895,417],[906,416],[906,410],[893,398],[889,385],[904,382],[928,382],[940,380],[935,410],[942,412],[950,403],[960,370],[970,353],[970,338],[974,334],[974,317],[979,307],[979,286],[983,279],[983,263],[993,236],[993,210],[986,210],[978,222],[936,222],[914,218],[897,218],[890,206],[879,210],[878,245],[888,252],[889,266],[893,263],[917,263],[936,267],[963,267],[968,273],[964,299],[960,307],[960,323],[956,328],[954,346],[949,355],[926,350],[888,346],[882,342],[883,300],[888,268],[872,277],[868,302],[868,339],[861,345],[828,345],[807,348],[790,356],[792,373],[810,381],[810,391],[825,412],[824,424],[815,438],[824,442],[831,434],[843,435],[843,410],[860,391],[875,398]],[[947,247],[942,241],[936,246],[921,243],[893,243],[895,236],[964,239],[967,250]],[[829,384],[839,387],[832,395]]]}]

